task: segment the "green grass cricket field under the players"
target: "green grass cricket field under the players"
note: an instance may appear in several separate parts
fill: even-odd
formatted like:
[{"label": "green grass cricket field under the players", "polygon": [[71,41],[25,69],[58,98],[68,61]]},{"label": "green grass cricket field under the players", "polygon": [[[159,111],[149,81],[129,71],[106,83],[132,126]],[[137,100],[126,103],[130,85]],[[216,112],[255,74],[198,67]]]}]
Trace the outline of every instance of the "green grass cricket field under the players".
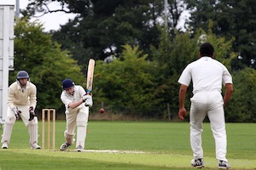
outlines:
[{"label": "green grass cricket field under the players", "polygon": [[[15,122],[9,149],[0,151],[0,169],[193,169],[188,122],[91,121],[84,152],[72,151],[74,145],[59,151],[65,126],[56,122],[55,150],[31,150],[26,127]],[[227,123],[226,128],[232,169],[256,169],[256,124]],[[205,169],[218,169],[209,123],[202,138]]]}]

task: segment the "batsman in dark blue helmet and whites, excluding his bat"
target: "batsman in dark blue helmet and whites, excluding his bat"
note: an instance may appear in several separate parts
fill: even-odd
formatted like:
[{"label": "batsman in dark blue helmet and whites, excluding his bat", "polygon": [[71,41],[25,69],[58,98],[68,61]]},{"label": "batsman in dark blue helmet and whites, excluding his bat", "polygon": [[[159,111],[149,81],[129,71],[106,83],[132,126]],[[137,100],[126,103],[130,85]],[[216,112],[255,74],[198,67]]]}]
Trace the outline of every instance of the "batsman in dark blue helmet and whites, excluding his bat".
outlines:
[{"label": "batsman in dark blue helmet and whites, excluding his bat", "polygon": [[60,150],[67,150],[67,147],[73,144],[75,127],[77,126],[76,148],[78,151],[81,151],[84,150],[89,107],[92,106],[92,97],[85,93],[82,86],[75,85],[69,78],[62,82],[62,88],[61,101],[66,107],[67,127],[64,132],[66,141],[64,144],[61,144]]}]

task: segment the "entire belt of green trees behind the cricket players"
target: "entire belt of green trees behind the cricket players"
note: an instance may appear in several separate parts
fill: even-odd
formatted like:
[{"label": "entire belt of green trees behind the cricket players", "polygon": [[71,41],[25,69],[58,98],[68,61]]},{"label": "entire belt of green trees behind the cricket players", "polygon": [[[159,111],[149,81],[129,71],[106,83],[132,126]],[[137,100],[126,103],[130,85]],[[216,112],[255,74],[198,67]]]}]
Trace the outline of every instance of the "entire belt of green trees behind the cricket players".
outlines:
[{"label": "entire belt of green trees behind the cricket players", "polygon": [[[44,8],[50,2],[60,3],[63,8]],[[192,11],[185,32],[175,29],[185,8],[183,2]],[[94,58],[95,105],[103,102],[116,114],[165,119],[167,104],[172,115],[177,116],[178,77],[186,65],[198,58],[201,42],[211,42],[215,59],[224,63],[233,76],[235,91],[225,107],[227,121],[255,122],[255,65],[248,64],[256,53],[254,1],[169,0],[167,15],[163,3],[32,0],[24,15],[36,14],[38,9],[43,13],[64,11],[78,15],[61,30],[49,32],[52,37],[45,35],[38,23],[18,24],[11,79],[15,80],[18,70],[26,69],[38,85],[39,107],[61,108],[62,79],[71,77],[84,85],[87,61]],[[167,24],[163,22],[165,17]],[[241,60],[236,59],[239,53]],[[191,95],[190,85],[185,101],[188,110]]]}]

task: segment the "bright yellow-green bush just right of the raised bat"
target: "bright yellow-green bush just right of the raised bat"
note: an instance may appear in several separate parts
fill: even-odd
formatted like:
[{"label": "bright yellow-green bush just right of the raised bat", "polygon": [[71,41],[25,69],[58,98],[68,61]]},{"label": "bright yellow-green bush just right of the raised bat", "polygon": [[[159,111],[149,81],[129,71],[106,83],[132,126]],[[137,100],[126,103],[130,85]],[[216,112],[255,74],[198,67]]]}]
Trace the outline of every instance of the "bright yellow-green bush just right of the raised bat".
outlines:
[{"label": "bright yellow-green bush just right of the raised bat", "polygon": [[124,49],[108,64],[96,62],[94,99],[111,106],[114,113],[155,117],[161,99],[155,98],[154,63],[138,47],[125,45]]}]

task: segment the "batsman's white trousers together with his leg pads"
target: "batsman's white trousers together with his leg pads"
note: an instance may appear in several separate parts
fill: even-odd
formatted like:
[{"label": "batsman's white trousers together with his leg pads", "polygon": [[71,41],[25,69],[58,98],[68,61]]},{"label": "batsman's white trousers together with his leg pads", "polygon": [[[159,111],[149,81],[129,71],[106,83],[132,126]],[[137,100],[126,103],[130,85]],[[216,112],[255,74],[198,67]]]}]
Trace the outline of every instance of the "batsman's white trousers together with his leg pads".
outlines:
[{"label": "batsman's white trousers together with his leg pads", "polygon": [[[67,127],[65,133],[66,135],[66,142],[69,140],[67,139],[68,135],[75,134],[75,127],[77,126],[77,140],[76,140],[76,147],[81,145],[84,148],[85,138],[86,138],[86,131],[87,131],[87,123],[88,123],[88,116],[89,116],[89,107],[86,106],[79,106],[75,109],[68,109],[66,111],[66,120],[67,120]],[[70,142],[67,142],[70,143]]]}]

